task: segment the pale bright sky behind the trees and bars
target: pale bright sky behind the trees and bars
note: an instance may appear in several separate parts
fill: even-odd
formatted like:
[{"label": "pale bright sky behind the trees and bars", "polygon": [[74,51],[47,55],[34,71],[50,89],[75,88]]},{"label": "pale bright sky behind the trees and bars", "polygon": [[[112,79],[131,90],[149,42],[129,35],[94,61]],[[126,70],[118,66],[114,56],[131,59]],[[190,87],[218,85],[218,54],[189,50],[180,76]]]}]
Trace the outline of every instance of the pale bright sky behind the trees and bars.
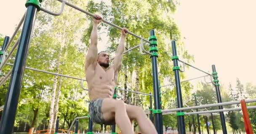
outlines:
[{"label": "pale bright sky behind the trees and bars", "polygon": [[[1,0],[1,34],[13,34],[26,11],[25,1]],[[174,19],[185,37],[186,49],[195,57],[191,64],[210,73],[215,64],[225,85],[231,82],[235,87],[237,77],[243,84],[256,85],[255,5],[256,0],[180,0]],[[194,78],[205,74],[190,68],[186,75]]]}]

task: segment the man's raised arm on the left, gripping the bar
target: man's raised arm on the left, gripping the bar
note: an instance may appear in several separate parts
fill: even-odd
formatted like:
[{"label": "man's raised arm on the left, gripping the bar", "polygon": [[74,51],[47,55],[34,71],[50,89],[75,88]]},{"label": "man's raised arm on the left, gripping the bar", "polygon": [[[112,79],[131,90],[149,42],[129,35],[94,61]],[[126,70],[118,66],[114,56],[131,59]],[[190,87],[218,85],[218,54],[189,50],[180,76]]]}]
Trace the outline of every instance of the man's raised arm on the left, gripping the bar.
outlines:
[{"label": "man's raised arm on the left, gripping the bar", "polygon": [[85,61],[85,71],[87,68],[92,65],[93,68],[96,67],[96,62],[98,58],[98,32],[97,27],[98,24],[102,21],[102,18],[99,15],[96,15],[97,18],[93,18],[93,29],[91,31],[91,44],[88,49],[88,53],[86,55],[86,61]]}]

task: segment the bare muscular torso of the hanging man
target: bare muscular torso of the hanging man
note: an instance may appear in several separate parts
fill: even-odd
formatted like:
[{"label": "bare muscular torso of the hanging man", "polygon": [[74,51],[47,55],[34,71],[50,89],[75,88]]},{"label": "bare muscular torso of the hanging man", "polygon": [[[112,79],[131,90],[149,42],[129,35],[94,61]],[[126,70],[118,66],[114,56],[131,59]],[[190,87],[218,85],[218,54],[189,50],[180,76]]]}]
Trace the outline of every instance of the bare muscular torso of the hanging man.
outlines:
[{"label": "bare muscular torso of the hanging man", "polygon": [[105,71],[98,63],[96,63],[95,68],[91,64],[85,73],[90,100],[113,97],[117,79],[117,74],[115,74],[113,67],[109,67]]}]

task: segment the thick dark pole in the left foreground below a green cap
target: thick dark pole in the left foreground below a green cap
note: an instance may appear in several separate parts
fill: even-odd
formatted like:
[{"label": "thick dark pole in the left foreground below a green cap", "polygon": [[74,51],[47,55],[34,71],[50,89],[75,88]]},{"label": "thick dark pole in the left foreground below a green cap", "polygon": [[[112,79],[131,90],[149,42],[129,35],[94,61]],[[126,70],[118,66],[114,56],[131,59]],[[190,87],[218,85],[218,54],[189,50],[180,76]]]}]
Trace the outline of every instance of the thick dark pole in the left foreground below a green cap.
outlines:
[{"label": "thick dark pole in the left foreground below a green cap", "polygon": [[23,73],[27,61],[27,55],[31,40],[31,35],[35,23],[37,8],[34,5],[28,5],[26,18],[21,31],[21,38],[17,50],[15,62],[13,65],[11,80],[6,95],[3,115],[0,121],[0,134],[12,134],[15,115],[21,93],[21,84]]}]

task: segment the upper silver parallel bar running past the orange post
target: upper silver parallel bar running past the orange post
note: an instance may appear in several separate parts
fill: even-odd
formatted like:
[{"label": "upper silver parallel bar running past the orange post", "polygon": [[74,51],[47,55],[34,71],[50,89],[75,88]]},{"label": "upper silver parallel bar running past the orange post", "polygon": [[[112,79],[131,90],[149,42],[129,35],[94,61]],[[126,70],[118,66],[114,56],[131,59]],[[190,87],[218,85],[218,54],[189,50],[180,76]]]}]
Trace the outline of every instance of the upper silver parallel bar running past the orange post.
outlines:
[{"label": "upper silver parallel bar running past the orange post", "polygon": [[[248,100],[245,100],[245,102],[246,103],[256,102],[256,99],[248,99]],[[240,101],[229,101],[229,102],[223,102],[223,103],[192,106],[192,107],[186,107],[186,108],[166,109],[166,110],[162,110],[162,112],[183,111],[183,110],[190,110],[190,109],[209,108],[209,107],[215,107],[215,106],[226,106],[226,105],[235,105],[235,104],[240,104]]]}]

